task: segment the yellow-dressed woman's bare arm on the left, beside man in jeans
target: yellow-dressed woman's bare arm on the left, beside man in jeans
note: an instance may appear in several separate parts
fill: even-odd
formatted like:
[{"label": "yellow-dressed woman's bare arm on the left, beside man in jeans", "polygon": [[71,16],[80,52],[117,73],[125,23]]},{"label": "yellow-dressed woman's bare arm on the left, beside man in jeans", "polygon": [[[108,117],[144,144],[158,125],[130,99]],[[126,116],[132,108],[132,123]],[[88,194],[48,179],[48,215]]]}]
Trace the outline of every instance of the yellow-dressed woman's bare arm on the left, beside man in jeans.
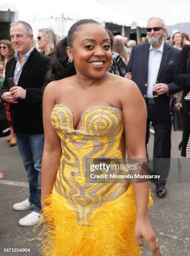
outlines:
[{"label": "yellow-dressed woman's bare arm on the left, beside man in jeans", "polygon": [[56,178],[59,159],[61,157],[61,141],[51,124],[51,112],[56,103],[55,82],[47,85],[43,95],[43,127],[45,143],[41,168],[41,205],[47,204],[44,201],[47,195],[51,194],[53,183]]}]

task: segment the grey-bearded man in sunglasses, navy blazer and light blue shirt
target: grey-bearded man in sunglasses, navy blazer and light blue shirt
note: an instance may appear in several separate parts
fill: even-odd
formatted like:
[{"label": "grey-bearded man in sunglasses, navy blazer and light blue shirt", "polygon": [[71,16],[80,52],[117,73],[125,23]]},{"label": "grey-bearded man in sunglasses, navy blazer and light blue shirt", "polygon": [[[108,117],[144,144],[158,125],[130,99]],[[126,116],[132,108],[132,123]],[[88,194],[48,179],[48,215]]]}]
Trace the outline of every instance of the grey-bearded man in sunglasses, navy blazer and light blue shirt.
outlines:
[{"label": "grey-bearded man in sunglasses, navy blazer and light blue shirt", "polygon": [[161,175],[159,181],[154,181],[158,197],[166,195],[165,183],[170,169],[172,123],[169,96],[181,90],[181,87],[173,82],[174,68],[180,51],[165,44],[165,33],[163,20],[149,20],[148,42],[133,47],[126,75],[138,85],[147,104],[146,145],[149,141],[150,122],[155,129],[153,158],[160,160],[153,161],[154,172]]}]

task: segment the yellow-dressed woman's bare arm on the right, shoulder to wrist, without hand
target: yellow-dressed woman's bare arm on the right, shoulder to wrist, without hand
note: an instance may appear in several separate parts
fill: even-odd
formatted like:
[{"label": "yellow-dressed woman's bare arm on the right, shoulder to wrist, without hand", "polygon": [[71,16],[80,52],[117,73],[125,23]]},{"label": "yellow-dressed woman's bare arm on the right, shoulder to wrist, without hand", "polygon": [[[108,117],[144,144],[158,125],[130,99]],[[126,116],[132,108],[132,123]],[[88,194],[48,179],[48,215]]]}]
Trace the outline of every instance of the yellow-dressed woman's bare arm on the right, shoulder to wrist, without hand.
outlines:
[{"label": "yellow-dressed woman's bare arm on the right, shoulder to wrist, without hand", "polygon": [[[147,108],[134,82],[127,80],[127,91],[122,96],[124,131],[129,159],[147,161],[145,148]],[[137,202],[137,218],[148,215],[149,182],[133,184]],[[143,192],[143,193],[142,193]]]}]

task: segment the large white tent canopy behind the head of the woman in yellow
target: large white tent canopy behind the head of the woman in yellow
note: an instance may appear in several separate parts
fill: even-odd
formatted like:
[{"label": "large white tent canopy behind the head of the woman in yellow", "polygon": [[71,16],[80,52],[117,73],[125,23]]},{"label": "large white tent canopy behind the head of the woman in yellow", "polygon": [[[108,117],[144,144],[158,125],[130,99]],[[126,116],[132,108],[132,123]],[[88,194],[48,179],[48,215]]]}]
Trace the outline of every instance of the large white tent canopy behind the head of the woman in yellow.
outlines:
[{"label": "large white tent canopy behind the head of the woman in yellow", "polygon": [[[53,28],[59,37],[66,36],[73,23],[83,18],[92,18],[102,25],[107,22],[128,27],[134,20],[128,15],[114,12],[93,0],[53,0],[51,5],[43,0],[33,0],[29,5],[22,0],[17,0],[16,3],[19,18],[30,23],[35,38],[39,28],[47,27]],[[138,21],[138,26],[144,27],[144,24]]]}]

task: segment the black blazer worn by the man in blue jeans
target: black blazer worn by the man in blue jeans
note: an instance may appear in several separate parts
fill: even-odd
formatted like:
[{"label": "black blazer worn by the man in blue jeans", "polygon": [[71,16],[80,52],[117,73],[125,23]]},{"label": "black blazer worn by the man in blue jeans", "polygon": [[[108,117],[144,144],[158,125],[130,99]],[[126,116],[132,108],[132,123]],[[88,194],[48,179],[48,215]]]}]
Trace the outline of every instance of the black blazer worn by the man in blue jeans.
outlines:
[{"label": "black blazer worn by the man in blue jeans", "polygon": [[[10,103],[10,114],[15,133],[42,134],[42,90],[44,78],[50,58],[32,51],[24,64],[18,80],[18,86],[26,89],[25,100],[18,99],[18,103]],[[15,58],[7,62],[5,69],[5,81],[0,96],[9,91],[9,78],[14,77],[16,66]]]}]

